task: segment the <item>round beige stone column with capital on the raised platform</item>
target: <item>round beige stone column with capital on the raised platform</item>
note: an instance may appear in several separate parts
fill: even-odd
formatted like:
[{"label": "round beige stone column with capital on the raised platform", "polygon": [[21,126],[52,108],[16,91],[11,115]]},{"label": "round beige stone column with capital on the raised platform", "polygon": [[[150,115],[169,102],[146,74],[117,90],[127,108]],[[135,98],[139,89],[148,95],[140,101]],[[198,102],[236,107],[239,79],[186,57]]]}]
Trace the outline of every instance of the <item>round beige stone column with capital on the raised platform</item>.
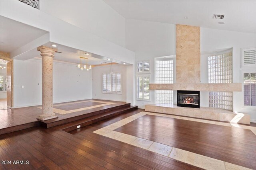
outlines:
[{"label": "round beige stone column with capital on the raised platform", "polygon": [[42,114],[37,119],[45,121],[58,117],[52,112],[52,67],[57,49],[40,46],[37,50],[42,56]]}]

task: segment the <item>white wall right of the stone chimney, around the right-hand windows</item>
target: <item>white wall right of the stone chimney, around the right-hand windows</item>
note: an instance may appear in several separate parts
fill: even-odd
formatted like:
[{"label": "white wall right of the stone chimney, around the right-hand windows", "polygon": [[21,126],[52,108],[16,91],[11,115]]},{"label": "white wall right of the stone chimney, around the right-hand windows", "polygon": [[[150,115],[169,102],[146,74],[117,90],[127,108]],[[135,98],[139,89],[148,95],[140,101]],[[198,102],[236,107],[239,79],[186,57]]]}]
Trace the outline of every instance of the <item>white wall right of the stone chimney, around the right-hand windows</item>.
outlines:
[{"label": "white wall right of the stone chimney, around the right-hand windows", "polygon": [[[201,28],[201,51],[214,51],[233,47],[233,82],[240,80],[240,48],[256,47],[256,34]],[[204,67],[201,63],[201,68]],[[207,64],[207,63],[206,63]],[[202,70],[201,70],[202,72]],[[242,108],[242,92],[234,92],[234,111],[248,113],[256,121],[256,109]]]}]

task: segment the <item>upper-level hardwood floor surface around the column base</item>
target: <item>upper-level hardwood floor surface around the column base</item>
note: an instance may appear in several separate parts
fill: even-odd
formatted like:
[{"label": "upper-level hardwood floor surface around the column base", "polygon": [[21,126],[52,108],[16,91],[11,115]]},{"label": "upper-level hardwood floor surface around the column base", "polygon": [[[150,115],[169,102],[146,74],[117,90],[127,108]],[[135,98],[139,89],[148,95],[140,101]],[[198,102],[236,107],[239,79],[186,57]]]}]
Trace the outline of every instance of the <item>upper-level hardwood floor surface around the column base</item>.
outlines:
[{"label": "upper-level hardwood floor surface around the column base", "polygon": [[[89,100],[80,100],[80,101],[74,101],[74,102],[54,104],[53,105],[54,108],[62,109],[64,111],[73,110],[73,112],[67,113],[67,114],[56,113],[58,118],[50,119],[44,122],[52,123],[54,125],[59,125],[59,124],[67,123],[69,121],[82,119],[87,116],[89,117],[92,115],[96,115],[98,113],[103,112],[103,110],[108,111],[110,109],[123,107],[126,105],[130,106],[130,104],[126,102],[94,100],[94,99],[93,101],[98,101],[98,102],[89,102]],[[100,104],[104,104],[100,102],[112,102],[114,104],[97,107]],[[86,108],[91,106],[96,106],[96,107],[79,111],[80,108]],[[36,118],[40,114],[42,114],[42,109],[38,107],[40,106],[0,110],[0,134],[38,126],[39,121]]]}]

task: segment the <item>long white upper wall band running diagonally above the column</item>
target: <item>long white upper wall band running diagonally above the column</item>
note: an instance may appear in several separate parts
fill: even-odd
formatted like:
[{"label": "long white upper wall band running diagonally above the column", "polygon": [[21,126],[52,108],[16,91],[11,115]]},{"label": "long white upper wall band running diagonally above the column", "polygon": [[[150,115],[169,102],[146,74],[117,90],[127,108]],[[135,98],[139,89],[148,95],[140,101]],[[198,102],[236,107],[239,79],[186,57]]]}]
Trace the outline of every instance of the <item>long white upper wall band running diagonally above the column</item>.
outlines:
[{"label": "long white upper wall band running diagonally above the column", "polygon": [[[50,42],[88,51],[124,63],[134,63],[134,52],[17,0],[0,0],[0,15],[50,32]],[[25,47],[26,45],[20,48],[28,49]],[[24,49],[17,51],[24,53]],[[34,49],[34,47],[30,49]],[[11,52],[11,56],[15,57],[12,54]],[[15,53],[16,56],[19,54]],[[28,57],[25,58],[28,59]]]}]

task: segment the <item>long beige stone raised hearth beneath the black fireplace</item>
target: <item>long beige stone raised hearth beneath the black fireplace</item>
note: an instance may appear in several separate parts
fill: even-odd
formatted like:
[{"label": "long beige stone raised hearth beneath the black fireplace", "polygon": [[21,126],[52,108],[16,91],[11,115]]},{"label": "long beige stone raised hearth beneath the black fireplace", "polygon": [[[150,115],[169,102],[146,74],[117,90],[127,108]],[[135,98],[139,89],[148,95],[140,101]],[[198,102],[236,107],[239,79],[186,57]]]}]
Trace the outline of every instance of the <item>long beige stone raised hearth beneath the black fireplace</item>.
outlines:
[{"label": "long beige stone raised hearth beneath the black fireplace", "polygon": [[210,107],[200,107],[198,109],[178,107],[175,104],[148,104],[145,105],[145,111],[250,125],[250,115],[246,113],[235,113],[233,111]]}]

